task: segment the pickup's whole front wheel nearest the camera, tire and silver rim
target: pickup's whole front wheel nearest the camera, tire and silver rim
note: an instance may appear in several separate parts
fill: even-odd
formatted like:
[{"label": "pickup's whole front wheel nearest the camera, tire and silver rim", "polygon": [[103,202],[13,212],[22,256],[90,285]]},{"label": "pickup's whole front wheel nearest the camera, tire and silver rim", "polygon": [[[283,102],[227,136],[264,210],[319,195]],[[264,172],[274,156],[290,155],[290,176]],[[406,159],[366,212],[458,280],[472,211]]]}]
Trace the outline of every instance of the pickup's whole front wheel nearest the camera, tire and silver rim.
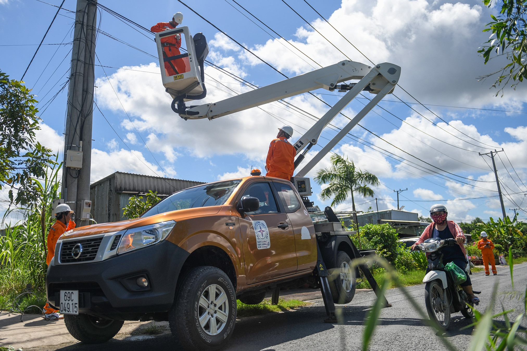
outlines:
[{"label": "pickup's whole front wheel nearest the camera, tire and silver rim", "polygon": [[168,318],[172,335],[186,350],[225,346],[236,323],[236,290],[227,274],[216,267],[196,267],[178,285]]}]

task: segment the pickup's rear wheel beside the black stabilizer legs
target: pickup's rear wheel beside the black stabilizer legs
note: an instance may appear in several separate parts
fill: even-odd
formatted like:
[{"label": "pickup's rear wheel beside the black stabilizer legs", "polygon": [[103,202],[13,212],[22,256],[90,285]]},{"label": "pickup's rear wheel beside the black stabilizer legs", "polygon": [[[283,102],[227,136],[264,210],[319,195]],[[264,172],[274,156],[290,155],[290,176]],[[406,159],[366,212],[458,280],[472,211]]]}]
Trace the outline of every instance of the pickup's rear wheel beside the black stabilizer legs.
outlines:
[{"label": "pickup's rear wheel beside the black stabilizer legs", "polygon": [[336,304],[347,304],[355,296],[355,272],[351,262],[352,259],[344,251],[337,252],[337,266],[329,277],[331,295]]}]

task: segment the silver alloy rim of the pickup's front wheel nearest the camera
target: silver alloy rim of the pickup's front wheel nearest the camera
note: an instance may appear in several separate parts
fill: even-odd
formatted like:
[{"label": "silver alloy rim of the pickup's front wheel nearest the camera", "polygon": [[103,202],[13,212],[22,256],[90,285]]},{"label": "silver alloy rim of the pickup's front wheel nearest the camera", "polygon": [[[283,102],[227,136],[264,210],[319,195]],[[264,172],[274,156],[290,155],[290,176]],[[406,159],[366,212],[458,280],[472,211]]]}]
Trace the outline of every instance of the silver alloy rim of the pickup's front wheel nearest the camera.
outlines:
[{"label": "silver alloy rim of the pickup's front wheel nearest the camera", "polygon": [[217,284],[211,284],[201,293],[199,299],[199,323],[208,335],[217,335],[229,319],[229,304],[225,290]]}]

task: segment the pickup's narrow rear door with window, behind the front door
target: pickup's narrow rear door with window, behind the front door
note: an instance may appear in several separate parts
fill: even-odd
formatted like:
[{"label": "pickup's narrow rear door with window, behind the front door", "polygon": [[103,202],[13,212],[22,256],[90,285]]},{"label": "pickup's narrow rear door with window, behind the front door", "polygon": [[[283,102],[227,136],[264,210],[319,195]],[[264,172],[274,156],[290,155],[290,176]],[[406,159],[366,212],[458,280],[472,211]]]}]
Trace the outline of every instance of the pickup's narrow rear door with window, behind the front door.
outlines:
[{"label": "pickup's narrow rear door with window, behind the front door", "polygon": [[272,183],[293,226],[298,262],[297,272],[313,270],[317,260],[317,239],[313,221],[290,183]]}]

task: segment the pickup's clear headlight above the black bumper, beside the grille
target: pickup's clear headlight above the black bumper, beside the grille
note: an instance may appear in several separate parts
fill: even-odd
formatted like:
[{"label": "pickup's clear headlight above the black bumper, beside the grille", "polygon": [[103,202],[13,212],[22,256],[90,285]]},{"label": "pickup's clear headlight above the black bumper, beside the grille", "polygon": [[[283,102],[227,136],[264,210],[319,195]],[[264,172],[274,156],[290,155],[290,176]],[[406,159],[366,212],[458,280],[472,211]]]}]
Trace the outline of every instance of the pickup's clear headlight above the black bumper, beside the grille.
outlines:
[{"label": "pickup's clear headlight above the black bumper, beside the grille", "polygon": [[170,234],[174,226],[175,220],[169,220],[167,222],[128,229],[124,232],[119,248],[117,249],[117,254],[123,254],[148,245],[157,244]]}]

